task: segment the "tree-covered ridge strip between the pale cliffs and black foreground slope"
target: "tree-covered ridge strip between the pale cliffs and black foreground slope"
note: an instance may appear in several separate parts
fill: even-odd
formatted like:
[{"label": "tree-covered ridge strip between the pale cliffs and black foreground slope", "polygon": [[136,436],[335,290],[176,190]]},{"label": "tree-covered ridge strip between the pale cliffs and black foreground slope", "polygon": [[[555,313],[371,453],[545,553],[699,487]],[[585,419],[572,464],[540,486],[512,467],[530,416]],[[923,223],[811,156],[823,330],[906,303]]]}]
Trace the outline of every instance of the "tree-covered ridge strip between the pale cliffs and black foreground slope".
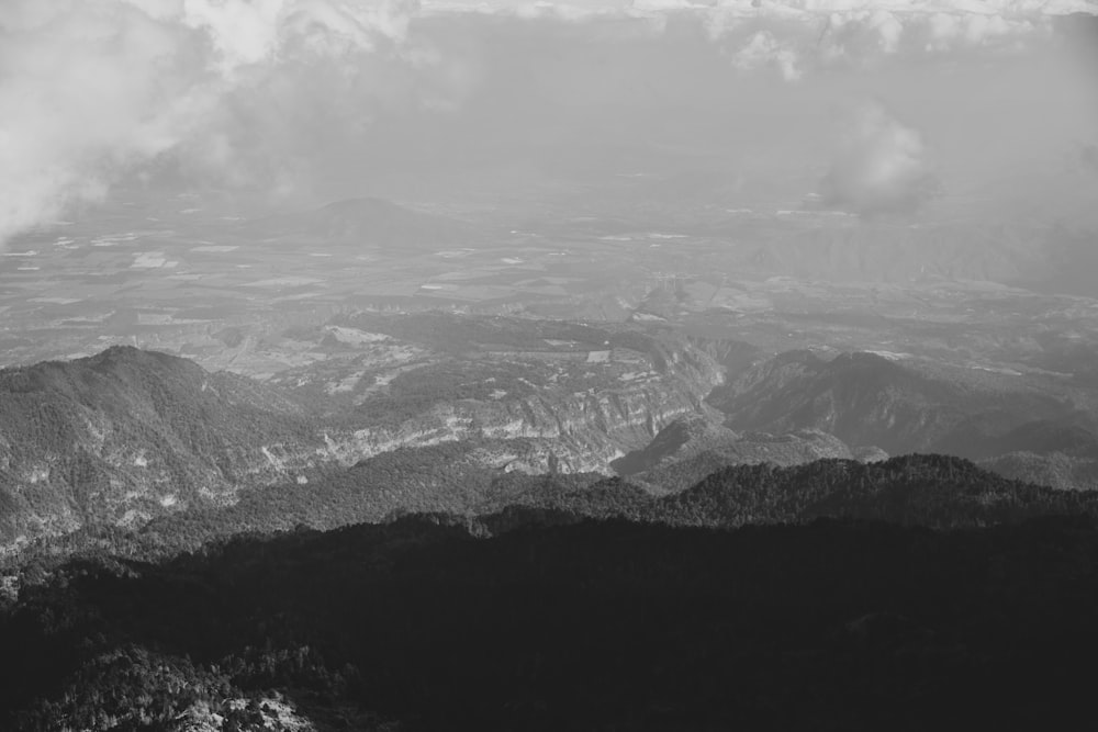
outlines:
[{"label": "tree-covered ridge strip between the pale cliffs and black foreground slope", "polygon": [[[1047,516],[1098,518],[1098,493],[1012,481],[946,455],[725,465],[685,489],[653,492],[648,484],[596,473],[488,469],[474,458],[478,450],[475,443],[395,450],[349,470],[316,473],[307,485],[243,491],[232,506],[176,511],[133,530],[109,527],[42,541],[7,564],[44,560],[56,565],[58,558],[89,550],[169,556],[239,533],[328,530],[413,513],[450,515],[482,534],[584,518],[720,529],[821,517],[934,529],[1017,525]],[[696,460],[688,463],[697,466]]]}]

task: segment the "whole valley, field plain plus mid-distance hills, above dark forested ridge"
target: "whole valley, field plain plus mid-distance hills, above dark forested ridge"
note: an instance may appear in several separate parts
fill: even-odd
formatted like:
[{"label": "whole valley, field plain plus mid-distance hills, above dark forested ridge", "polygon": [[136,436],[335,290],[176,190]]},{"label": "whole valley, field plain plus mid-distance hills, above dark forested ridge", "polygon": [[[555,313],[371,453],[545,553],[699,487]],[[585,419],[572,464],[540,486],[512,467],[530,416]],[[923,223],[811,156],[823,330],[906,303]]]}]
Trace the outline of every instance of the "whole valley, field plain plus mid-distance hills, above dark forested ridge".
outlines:
[{"label": "whole valley, field plain plus mid-distance hills, above dark forested ridge", "polygon": [[[120,230],[143,205],[146,227]],[[661,228],[369,198],[215,213],[131,202],[5,252],[9,551],[447,444],[473,446],[456,454],[484,485],[619,474],[662,495],[726,465],[939,452],[1096,486],[1098,303],[774,259],[841,216]],[[65,437],[31,447],[27,418]],[[348,517],[506,504],[456,477],[385,480],[403,497]]]}]

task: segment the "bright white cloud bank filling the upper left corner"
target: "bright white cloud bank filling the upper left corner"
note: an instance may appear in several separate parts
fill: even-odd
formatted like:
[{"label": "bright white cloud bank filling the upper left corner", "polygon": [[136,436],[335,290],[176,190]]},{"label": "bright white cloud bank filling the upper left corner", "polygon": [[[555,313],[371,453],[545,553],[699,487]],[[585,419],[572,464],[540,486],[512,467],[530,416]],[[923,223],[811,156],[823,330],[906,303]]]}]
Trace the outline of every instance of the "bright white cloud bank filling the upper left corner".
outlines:
[{"label": "bright white cloud bank filling the upper left corner", "polygon": [[[0,8],[0,243],[179,146],[239,162],[233,99],[298,57],[399,44],[417,3],[10,0]],[[212,128],[213,127],[213,128]],[[237,135],[239,136],[239,135]]]}]

